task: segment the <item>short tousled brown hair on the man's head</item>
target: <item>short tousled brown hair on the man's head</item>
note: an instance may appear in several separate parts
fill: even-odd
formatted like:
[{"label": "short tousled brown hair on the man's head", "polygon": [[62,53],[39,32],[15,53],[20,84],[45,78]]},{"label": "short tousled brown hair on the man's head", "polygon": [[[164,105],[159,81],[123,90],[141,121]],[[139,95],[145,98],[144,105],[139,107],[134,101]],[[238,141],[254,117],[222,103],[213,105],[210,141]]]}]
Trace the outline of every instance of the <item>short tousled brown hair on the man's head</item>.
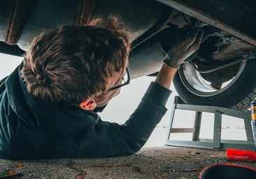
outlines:
[{"label": "short tousled brown hair on the man's head", "polygon": [[125,70],[129,38],[117,17],[60,27],[34,39],[22,77],[39,99],[78,106],[106,91],[108,78]]}]

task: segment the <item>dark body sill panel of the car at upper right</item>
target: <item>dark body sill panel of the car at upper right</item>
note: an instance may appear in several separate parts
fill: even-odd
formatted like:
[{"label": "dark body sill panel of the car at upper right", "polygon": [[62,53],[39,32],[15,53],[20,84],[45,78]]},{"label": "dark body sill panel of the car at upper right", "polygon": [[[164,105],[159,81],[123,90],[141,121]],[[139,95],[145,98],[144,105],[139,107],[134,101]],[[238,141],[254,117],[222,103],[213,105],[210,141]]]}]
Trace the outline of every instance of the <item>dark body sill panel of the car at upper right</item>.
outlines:
[{"label": "dark body sill panel of the car at upper right", "polygon": [[157,0],[171,8],[222,29],[243,41],[256,45],[255,10],[239,1],[229,0]]}]

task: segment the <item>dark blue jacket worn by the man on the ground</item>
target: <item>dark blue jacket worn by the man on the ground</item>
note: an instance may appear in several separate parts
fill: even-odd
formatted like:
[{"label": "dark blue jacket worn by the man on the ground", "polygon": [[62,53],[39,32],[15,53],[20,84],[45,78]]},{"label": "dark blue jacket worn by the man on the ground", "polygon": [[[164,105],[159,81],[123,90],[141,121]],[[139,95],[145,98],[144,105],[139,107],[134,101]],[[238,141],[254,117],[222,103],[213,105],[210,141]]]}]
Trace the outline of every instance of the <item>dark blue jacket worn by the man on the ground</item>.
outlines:
[{"label": "dark blue jacket worn by the man on the ground", "polygon": [[97,113],[58,106],[27,92],[20,66],[0,81],[0,158],[57,159],[132,155],[166,113],[171,91],[151,83],[125,124]]}]

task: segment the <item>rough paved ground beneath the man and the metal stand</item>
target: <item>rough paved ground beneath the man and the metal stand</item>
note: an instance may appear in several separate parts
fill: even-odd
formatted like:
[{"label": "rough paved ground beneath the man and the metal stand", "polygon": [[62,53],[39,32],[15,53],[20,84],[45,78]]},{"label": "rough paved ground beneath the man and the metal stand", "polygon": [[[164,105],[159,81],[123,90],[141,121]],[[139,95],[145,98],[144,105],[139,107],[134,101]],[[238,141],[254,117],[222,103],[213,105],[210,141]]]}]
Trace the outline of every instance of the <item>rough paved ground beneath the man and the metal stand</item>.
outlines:
[{"label": "rough paved ground beneath the man and the metal stand", "polygon": [[234,162],[225,151],[198,148],[143,148],[136,155],[105,159],[5,160],[2,178],[199,178],[204,167],[233,163],[256,168],[255,162]]}]

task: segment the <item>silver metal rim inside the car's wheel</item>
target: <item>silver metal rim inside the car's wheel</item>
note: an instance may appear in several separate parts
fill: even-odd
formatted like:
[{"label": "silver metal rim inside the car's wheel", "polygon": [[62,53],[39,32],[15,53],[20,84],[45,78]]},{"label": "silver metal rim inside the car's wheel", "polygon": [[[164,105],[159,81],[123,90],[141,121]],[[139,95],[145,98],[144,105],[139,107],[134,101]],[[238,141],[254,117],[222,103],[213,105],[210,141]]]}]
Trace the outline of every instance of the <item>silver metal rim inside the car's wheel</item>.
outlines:
[{"label": "silver metal rim inside the car's wheel", "polygon": [[236,76],[226,83],[223,83],[222,87],[218,90],[215,89],[210,82],[205,80],[201,74],[194,68],[191,62],[185,62],[179,69],[178,73],[183,85],[197,96],[214,96],[220,94],[231,87],[236,80],[241,76],[243,69],[246,66],[246,62],[241,62]]}]

